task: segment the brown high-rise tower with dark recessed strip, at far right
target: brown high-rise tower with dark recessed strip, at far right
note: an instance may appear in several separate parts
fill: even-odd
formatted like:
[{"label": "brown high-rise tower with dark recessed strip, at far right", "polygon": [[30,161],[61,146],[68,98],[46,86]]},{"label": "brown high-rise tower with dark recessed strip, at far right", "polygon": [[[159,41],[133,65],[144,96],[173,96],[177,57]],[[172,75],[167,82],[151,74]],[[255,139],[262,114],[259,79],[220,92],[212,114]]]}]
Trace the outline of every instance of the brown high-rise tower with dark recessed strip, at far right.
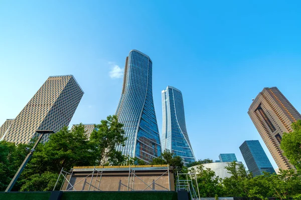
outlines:
[{"label": "brown high-rise tower with dark recessed strip, at far right", "polygon": [[249,107],[255,127],[279,168],[294,168],[280,149],[283,132],[291,132],[291,123],[301,119],[300,113],[292,106],[277,87],[265,87]]}]

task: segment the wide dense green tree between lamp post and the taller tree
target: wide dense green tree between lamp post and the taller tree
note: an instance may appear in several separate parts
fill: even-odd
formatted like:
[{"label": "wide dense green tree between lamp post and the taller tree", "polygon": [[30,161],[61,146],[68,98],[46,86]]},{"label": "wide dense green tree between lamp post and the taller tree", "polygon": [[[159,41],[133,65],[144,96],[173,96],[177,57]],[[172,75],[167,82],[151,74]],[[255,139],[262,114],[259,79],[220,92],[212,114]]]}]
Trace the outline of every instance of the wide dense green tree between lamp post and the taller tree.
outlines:
[{"label": "wide dense green tree between lamp post and the taller tree", "polygon": [[61,168],[69,170],[73,166],[94,165],[97,158],[95,146],[85,134],[84,125],[76,125],[71,130],[63,127],[51,134],[49,141],[40,143],[27,169],[27,175],[42,174],[45,171],[59,173]]}]

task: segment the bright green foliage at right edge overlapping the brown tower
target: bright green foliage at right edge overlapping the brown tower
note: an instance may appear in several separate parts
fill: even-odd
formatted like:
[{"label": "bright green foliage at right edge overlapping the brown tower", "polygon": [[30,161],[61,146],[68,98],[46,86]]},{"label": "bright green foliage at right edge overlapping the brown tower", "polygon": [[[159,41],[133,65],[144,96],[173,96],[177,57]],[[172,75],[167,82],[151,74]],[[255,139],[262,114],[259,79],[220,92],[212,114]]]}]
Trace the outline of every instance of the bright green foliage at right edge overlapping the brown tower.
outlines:
[{"label": "bright green foliage at right edge overlapping the brown tower", "polygon": [[291,124],[292,132],[284,132],[282,135],[280,148],[298,172],[301,172],[301,120]]}]

